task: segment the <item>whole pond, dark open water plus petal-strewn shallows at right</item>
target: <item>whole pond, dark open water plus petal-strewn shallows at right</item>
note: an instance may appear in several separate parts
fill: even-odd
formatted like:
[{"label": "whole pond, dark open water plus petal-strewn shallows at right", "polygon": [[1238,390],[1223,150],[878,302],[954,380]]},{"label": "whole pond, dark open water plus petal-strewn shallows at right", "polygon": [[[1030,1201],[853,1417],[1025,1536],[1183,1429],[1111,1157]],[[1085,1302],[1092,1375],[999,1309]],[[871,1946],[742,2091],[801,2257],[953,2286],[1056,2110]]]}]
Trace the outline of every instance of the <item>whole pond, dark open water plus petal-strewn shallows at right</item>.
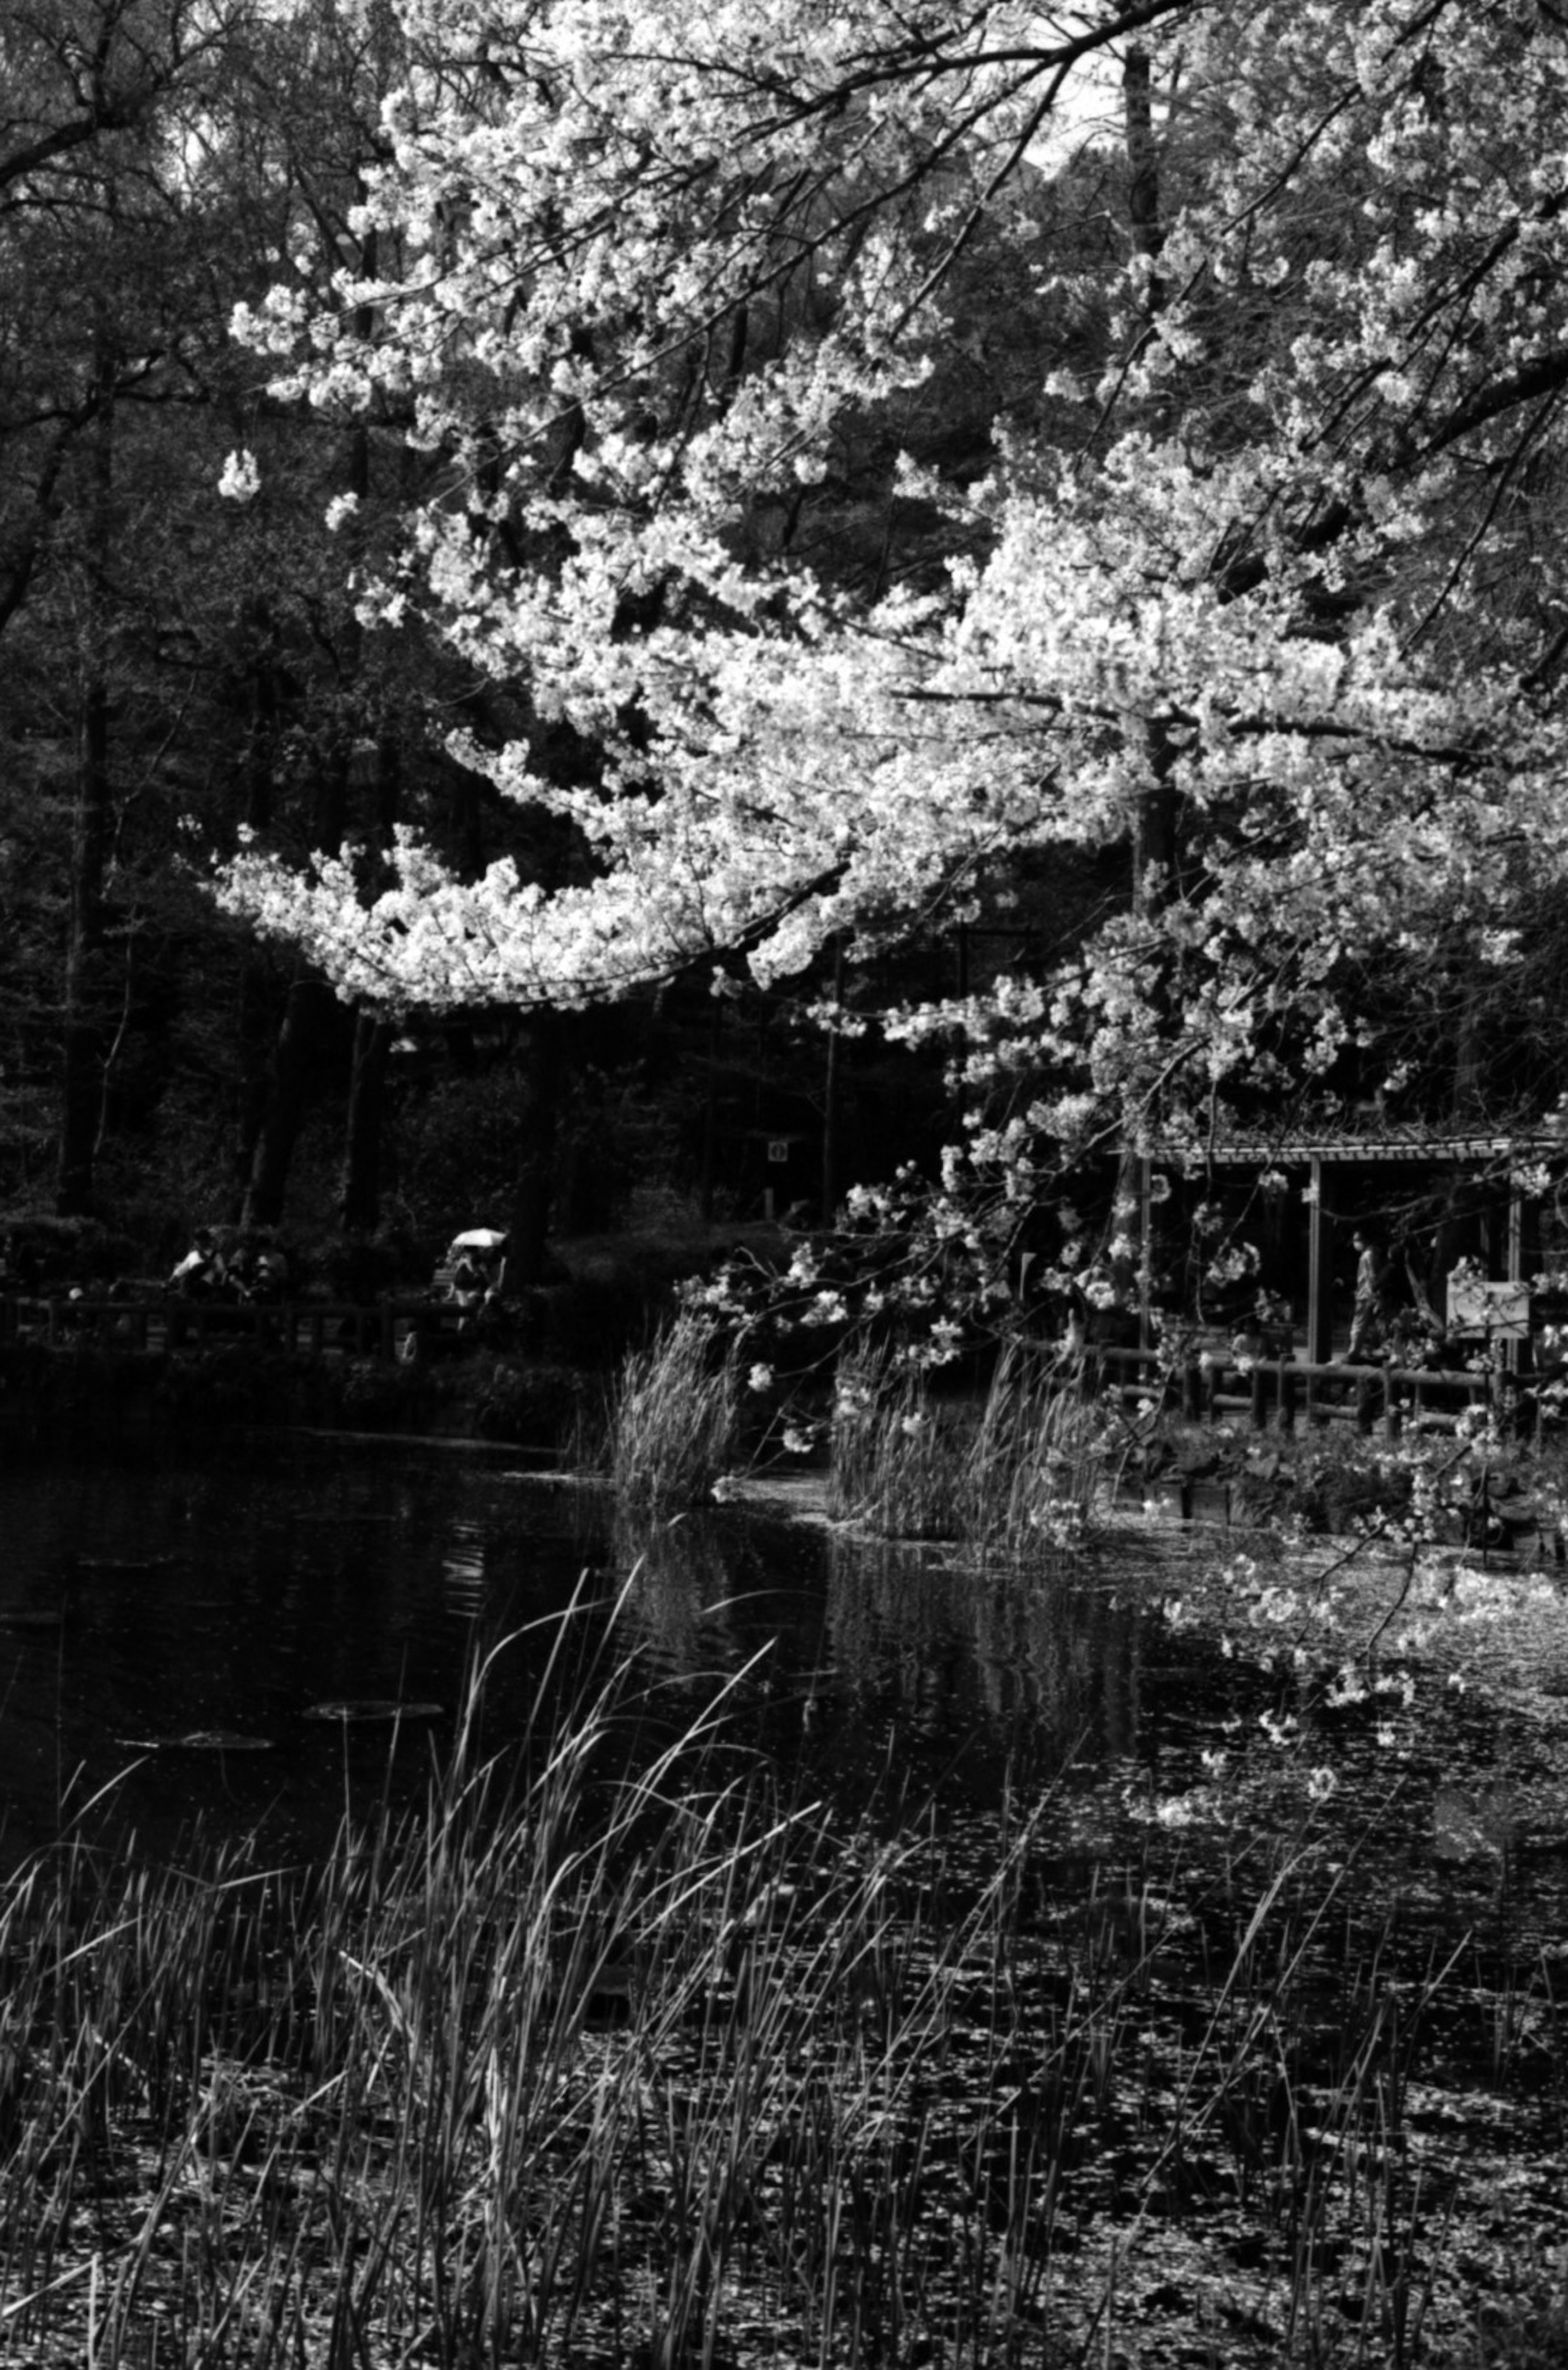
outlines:
[{"label": "whole pond, dark open water plus petal-strewn shallows at right", "polygon": [[[602,1979],[604,1998],[587,1984],[559,2088],[571,2112],[557,2100],[566,2121],[528,2145],[538,2161],[564,2150],[585,2178],[585,2097],[595,2131],[625,2114],[642,2138],[623,2157],[604,2140],[618,2204],[602,2206],[606,2223],[590,2216],[595,2275],[550,2304],[512,2294],[505,2342],[476,2358],[609,2365],[663,2358],[663,2344],[670,2361],[990,2363],[1092,2344],[1125,2363],[1438,2363],[1490,2358],[1487,2332],[1499,2346],[1547,2332],[1540,2353],[1497,2358],[1556,2358],[1556,1567],[1267,1540],[1244,1555],[1234,1538],[1123,1524],[1040,1574],[978,1574],[936,1548],[874,1548],[770,1510],[630,1536],[602,1493],[507,1458],[298,1441],[220,1467],[166,1455],[0,1469],[0,1657],[9,1868],[78,1832],[95,1799],[92,1820],[133,1827],[149,1860],[189,1856],[201,1823],[310,1863],[346,1806],[419,1801],[481,1657],[488,1751],[538,1744],[583,1673],[621,1661],[635,1678],[602,1773],[604,1751],[611,1775],[656,1766],[722,1690],[703,1787],[727,1801],[737,1773],[772,1770],[791,1815],[812,1806],[801,1865],[793,1841],[770,1844],[775,1858],[758,1841],[772,1872],[744,1915],[720,1920],[722,1977],[687,1967],[658,1993],[647,1936],[628,1943],[637,1984],[666,2000],[630,2014],[630,2038],[602,2031],[595,2010],[621,1998],[621,1977]],[[403,1714],[348,1721],[343,1706]],[[687,1815],[680,1794],[673,1815]],[[689,1891],[711,1882],[701,1851],[682,1863]],[[777,1903],[796,1898],[815,1905],[791,1927]],[[867,1920],[874,1946],[848,1948]],[[737,1934],[746,1953],[777,1943],[779,1998],[808,2024],[779,2026],[767,2081],[753,2064],[734,2107],[737,2199],[737,2133],[772,2135],[734,2204],[720,2294],[711,2270],[689,2270],[692,2230],[720,2206],[699,2211],[685,2192],[696,2176],[675,2131],[711,2100],[720,2060],[722,2081],[739,2078]],[[696,1943],[682,1927],[685,1948]],[[812,2005],[810,1969],[829,1960]],[[692,2000],[708,2003],[708,2038],[694,2038]],[[872,2045],[867,2019],[883,2007]],[[386,2083],[384,2041],[372,2057]],[[417,2052],[407,2081],[367,2159],[426,2112]],[[775,2081],[786,2107],[767,2105]],[[865,2114],[843,2107],[843,2131],[827,2133],[829,2093]],[[654,2112],[675,2116],[656,2178]],[[469,2183],[478,2195],[483,2173]],[[827,2235],[808,2230],[808,2195],[827,2199]],[[758,2254],[763,2206],[793,2233],[782,2254]],[[535,2237],[550,2211],[531,2206]],[[573,2216],[571,2244],[587,2247]],[[502,2285],[523,2280],[519,2244],[512,2230]],[[715,2244],[708,2230],[701,2261]],[[324,2308],[308,2266],[301,2252],[289,2270],[301,2294],[315,2280],[315,2304],[291,2306],[306,2318]],[[628,2282],[640,2334],[621,2325]],[[59,2311],[36,2325],[66,2330]],[[379,2297],[377,2311],[391,2346],[393,2306]],[[410,2292],[398,2311],[407,2344],[429,2299]],[[102,2358],[142,2358],[137,2327],[126,2306],[123,2353]]]}]

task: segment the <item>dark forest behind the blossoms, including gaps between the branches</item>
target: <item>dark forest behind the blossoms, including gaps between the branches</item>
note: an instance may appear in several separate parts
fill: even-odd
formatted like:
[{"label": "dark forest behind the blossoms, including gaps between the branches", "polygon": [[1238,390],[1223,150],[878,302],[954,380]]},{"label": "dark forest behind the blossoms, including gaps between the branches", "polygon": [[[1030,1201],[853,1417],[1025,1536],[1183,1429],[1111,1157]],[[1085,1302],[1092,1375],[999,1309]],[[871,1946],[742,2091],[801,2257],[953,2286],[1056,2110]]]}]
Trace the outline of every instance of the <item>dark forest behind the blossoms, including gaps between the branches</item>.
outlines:
[{"label": "dark forest behind the blossoms, including gaps between the branches", "polygon": [[[1442,9],[1426,14],[1435,24]],[[1561,31],[1523,26],[1530,9],[1514,14],[1509,38],[1530,66],[1547,45],[1556,57]],[[268,391],[268,358],[232,337],[234,308],[261,308],[279,280],[308,315],[332,308],[336,273],[348,275],[341,287],[398,273],[398,232],[365,199],[391,161],[388,92],[457,71],[438,24],[441,12],[379,0],[7,0],[0,14],[0,1204],[102,1218],[149,1258],[218,1218],[384,1230],[417,1242],[419,1256],[483,1218],[512,1225],[538,1261],[550,1225],[595,1232],[658,1209],[831,1211],[850,1180],[888,1178],[902,1161],[936,1171],[955,1130],[952,1031],[905,1048],[862,1029],[862,1010],[943,998],[962,1007],[1000,979],[1071,967],[1106,915],[1153,912],[1151,832],[1170,830],[1163,787],[1132,830],[1085,830],[1056,846],[1023,830],[1011,841],[992,834],[981,860],[955,863],[940,896],[883,910],[869,939],[822,929],[784,981],[748,972],[741,931],[720,948],[725,993],[703,955],[580,1010],[573,998],[559,1010],[497,995],[464,1010],[448,998],[438,1014],[417,998],[343,1000],[308,953],[220,910],[213,860],[246,834],[291,865],[355,851],[365,896],[400,825],[460,882],[478,882],[497,858],[545,891],[592,872],[559,808],[502,796],[448,749],[452,732],[490,751],[526,742],[540,775],[592,784],[604,749],[571,702],[545,709],[526,666],[509,673],[441,630],[450,621],[438,602],[365,600],[372,581],[396,578],[410,519],[455,488],[486,564],[497,552],[500,566],[519,564],[505,500],[481,500],[486,391],[443,446],[391,379],[362,401],[322,389],[284,401]],[[1400,64],[1416,95],[1426,73],[1433,126],[1450,107],[1440,40],[1435,24]],[[486,73],[500,83],[502,69],[483,57],[476,66],[476,55],[469,43],[462,73],[478,76],[476,88]],[[1229,303],[1215,348],[1225,372],[1199,358],[1180,403],[1175,365],[1163,391],[1146,379],[1139,393],[1151,339],[1175,320],[1161,280],[1175,284],[1170,256],[1161,263],[1165,213],[1175,218],[1225,145],[1246,137],[1236,114],[1208,104],[1213,88],[1187,111],[1158,107],[1149,73],[1146,52],[1123,43],[1116,83],[1099,85],[1113,92],[1108,135],[1085,121],[1080,137],[1040,147],[990,216],[976,213],[945,268],[931,365],[841,408],[829,462],[801,472],[793,493],[760,486],[748,498],[751,557],[784,555],[862,604],[891,585],[926,590],[955,552],[978,564],[988,529],[955,529],[950,505],[997,455],[1016,467],[1021,438],[1040,455],[1080,436],[1082,391],[1071,382],[1082,389],[1106,372],[1120,370],[1130,389],[1118,393],[1118,429],[1130,412],[1168,434],[1187,405],[1210,453],[1246,450],[1239,389],[1262,384],[1291,339],[1307,341],[1312,322],[1293,310],[1307,296],[1274,273],[1277,258],[1267,310],[1234,275],[1225,299],[1201,292],[1199,306]],[[1296,104],[1281,81],[1286,97]],[[1495,147],[1502,156],[1502,121]],[[1357,192],[1324,180],[1298,194],[1286,246],[1355,268]],[[1362,211],[1371,216],[1371,199]],[[1537,199],[1537,213],[1554,223],[1556,201]],[[1506,232],[1478,230],[1478,242],[1509,251]],[[1040,251],[1049,280],[1033,268]],[[1549,275],[1544,239],[1535,251],[1532,268]],[[1303,270],[1303,289],[1310,282]],[[1132,313],[1130,287],[1142,289]],[[1464,320],[1457,287],[1445,251],[1428,306],[1447,339],[1442,367],[1480,351],[1483,315]],[[1518,296],[1518,275],[1509,287]],[[1525,296],[1547,322],[1554,296]],[[772,360],[834,327],[834,299],[810,275],[777,282],[770,303],[767,315],[756,299],[737,313],[734,384],[760,367],[763,327]],[[341,322],[367,348],[381,329],[369,299],[362,318],[351,308]],[[1180,360],[1175,329],[1170,346]],[[467,384],[462,360],[448,379]],[[1405,578],[1376,576],[1374,529],[1348,533],[1329,495],[1317,524],[1298,512],[1291,635],[1334,645],[1393,585],[1419,621],[1424,661],[1442,673],[1492,664],[1502,647],[1551,704],[1568,635],[1554,564],[1537,559],[1559,521],[1551,438],[1566,379],[1556,365],[1514,379],[1499,365],[1495,401],[1442,398],[1442,450],[1464,457],[1471,438],[1473,469],[1459,474],[1447,529],[1431,529],[1419,564],[1414,531],[1397,529]],[[1412,417],[1426,403],[1428,427],[1435,384],[1412,396]],[[1338,417],[1331,389],[1322,410]],[[1108,446],[1111,427],[1097,434]],[[1431,455],[1407,446],[1414,481]],[[1400,450],[1388,431],[1388,481]],[[1364,438],[1360,455],[1345,453],[1334,469],[1362,483]],[[576,457],[576,446],[557,453],[550,469]],[[1471,581],[1478,550],[1485,597]],[[1525,557],[1537,574],[1521,574]],[[528,564],[547,566],[550,555]],[[1239,545],[1215,559],[1236,600],[1262,566]],[[628,595],[611,630],[635,638],[644,623]],[[1139,730],[1149,739],[1168,728]],[[1158,751],[1153,770],[1170,773]],[[1236,815],[1222,820],[1244,839]],[[1412,872],[1424,863],[1416,841]],[[1265,827],[1258,846],[1267,863]],[[1281,877],[1296,853],[1279,825]],[[1352,1026],[1307,1059],[1322,998],[1293,991],[1289,1010],[1281,998],[1267,1057],[1236,1074],[1232,1119],[1537,1126],[1568,1083],[1561,884],[1521,867],[1506,946],[1497,920],[1492,896],[1485,912],[1454,908],[1447,936],[1424,922],[1376,946],[1336,939],[1317,986],[1331,969]],[[1215,960],[1234,972],[1234,943]],[[1248,960],[1255,974],[1258,948]],[[1156,1021],[1184,993],[1165,981],[1149,1007]],[[836,1017],[827,1031],[824,1000]],[[971,1104],[978,1093],[995,1116],[1037,1093],[1040,1076],[1021,1083],[1021,1069],[1000,1064],[978,1088],[971,1078]]]}]

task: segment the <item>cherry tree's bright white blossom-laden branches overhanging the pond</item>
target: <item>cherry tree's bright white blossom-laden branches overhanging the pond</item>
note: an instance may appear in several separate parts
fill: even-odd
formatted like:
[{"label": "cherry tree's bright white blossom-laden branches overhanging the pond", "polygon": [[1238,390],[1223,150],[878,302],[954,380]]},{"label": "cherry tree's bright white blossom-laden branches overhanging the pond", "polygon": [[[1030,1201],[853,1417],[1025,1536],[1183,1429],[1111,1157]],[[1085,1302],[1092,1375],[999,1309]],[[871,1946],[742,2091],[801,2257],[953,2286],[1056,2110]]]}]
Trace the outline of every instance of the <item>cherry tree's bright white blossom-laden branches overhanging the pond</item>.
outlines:
[{"label": "cherry tree's bright white blossom-laden branches overhanging the pond", "polygon": [[[367,616],[533,725],[592,858],[263,846],[223,898],[372,1007],[801,979],[1092,851],[1049,969],[883,1014],[1018,1206],[1504,979],[1563,882],[1568,24],[1518,0],[403,0],[360,237],[242,310],[433,455]],[[1004,306],[1004,310],[997,310]],[[978,389],[978,391],[976,391]],[[900,438],[978,410],[964,467]],[[872,559],[874,555],[874,559]],[[566,723],[595,761],[542,761]]]}]

